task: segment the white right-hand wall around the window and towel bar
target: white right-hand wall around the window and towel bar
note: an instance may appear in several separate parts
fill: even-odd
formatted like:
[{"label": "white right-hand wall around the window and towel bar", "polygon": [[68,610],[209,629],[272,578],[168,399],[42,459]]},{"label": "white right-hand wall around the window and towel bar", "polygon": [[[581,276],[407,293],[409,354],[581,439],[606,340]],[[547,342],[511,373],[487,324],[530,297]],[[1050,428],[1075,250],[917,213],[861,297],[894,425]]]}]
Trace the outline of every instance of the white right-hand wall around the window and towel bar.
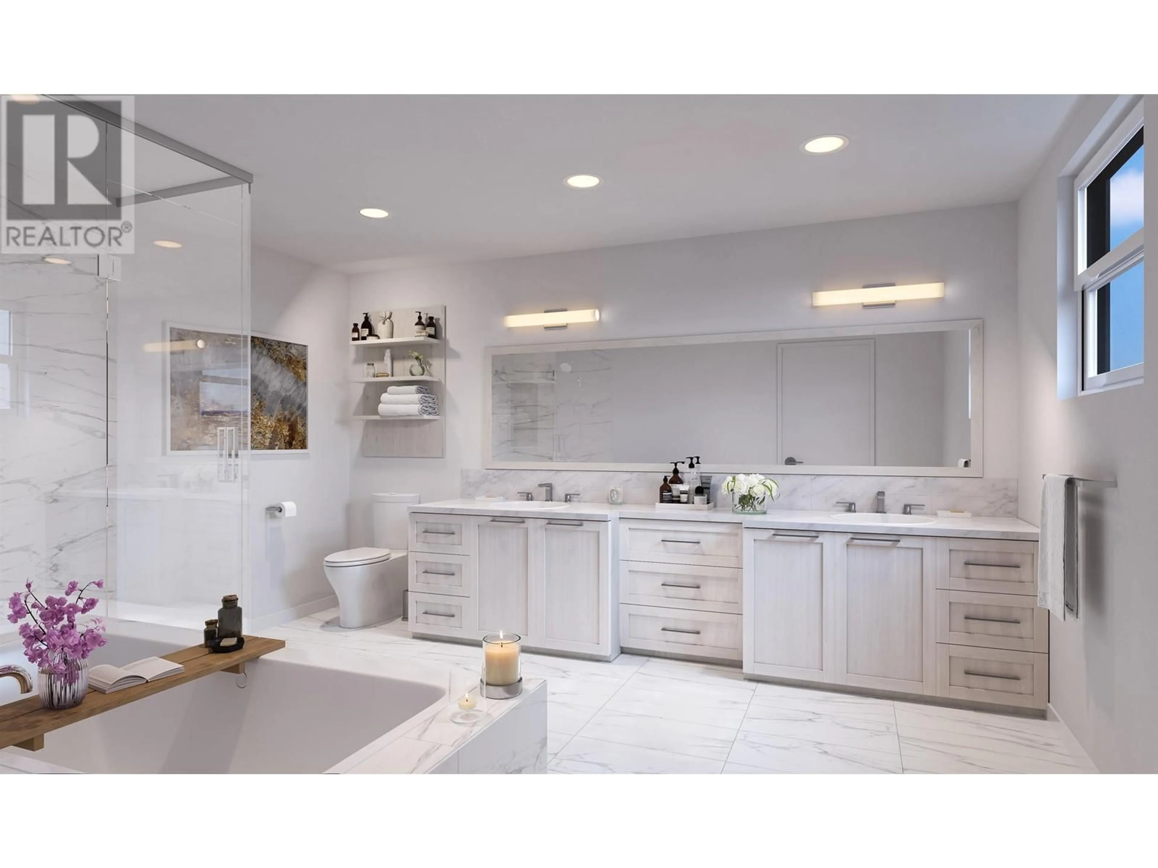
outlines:
[{"label": "white right-hand wall around the window and towel bar", "polygon": [[[1145,97],[1158,117],[1158,97]],[[1086,97],[1058,135],[1018,205],[1020,334],[1020,514],[1040,515],[1041,475],[1116,479],[1117,488],[1080,495],[1079,617],[1050,618],[1050,704],[1104,772],[1158,771],[1158,376],[1114,391],[1058,398],[1058,299],[1069,294],[1068,204],[1076,154],[1099,144],[1091,132],[1113,104]],[[1151,167],[1152,168],[1152,167]],[[1145,190],[1146,223],[1158,226],[1158,172]],[[1158,363],[1158,273],[1148,269],[1145,356]],[[988,350],[988,347],[987,347]],[[987,382],[988,387],[988,382]],[[989,421],[987,417],[987,424]]]}]

